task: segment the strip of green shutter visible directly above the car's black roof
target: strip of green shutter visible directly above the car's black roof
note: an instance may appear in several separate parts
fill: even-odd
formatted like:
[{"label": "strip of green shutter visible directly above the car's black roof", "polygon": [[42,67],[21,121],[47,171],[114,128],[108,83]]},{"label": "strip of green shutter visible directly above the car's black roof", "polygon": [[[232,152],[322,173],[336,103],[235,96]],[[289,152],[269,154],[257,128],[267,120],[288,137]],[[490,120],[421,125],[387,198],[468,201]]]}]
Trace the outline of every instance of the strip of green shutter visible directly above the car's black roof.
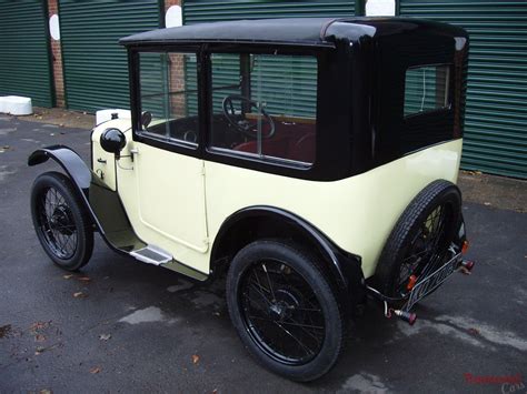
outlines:
[{"label": "strip of green shutter visible directly above the car's black roof", "polygon": [[185,24],[238,19],[352,16],[355,16],[352,0],[183,1]]}]

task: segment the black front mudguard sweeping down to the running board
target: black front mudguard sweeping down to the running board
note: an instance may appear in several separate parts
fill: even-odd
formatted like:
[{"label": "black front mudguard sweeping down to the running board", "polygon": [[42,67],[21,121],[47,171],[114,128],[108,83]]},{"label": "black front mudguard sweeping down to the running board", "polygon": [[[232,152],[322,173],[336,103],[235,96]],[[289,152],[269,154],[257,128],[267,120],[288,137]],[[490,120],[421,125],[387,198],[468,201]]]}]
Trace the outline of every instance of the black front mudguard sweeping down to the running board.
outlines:
[{"label": "black front mudguard sweeping down to the running board", "polygon": [[108,189],[76,151],[64,145],[39,149],[29,155],[28,165],[41,164],[49,159],[54,160],[71,179],[93,225],[111,249],[128,254],[146,246],[133,232],[118,193]]}]

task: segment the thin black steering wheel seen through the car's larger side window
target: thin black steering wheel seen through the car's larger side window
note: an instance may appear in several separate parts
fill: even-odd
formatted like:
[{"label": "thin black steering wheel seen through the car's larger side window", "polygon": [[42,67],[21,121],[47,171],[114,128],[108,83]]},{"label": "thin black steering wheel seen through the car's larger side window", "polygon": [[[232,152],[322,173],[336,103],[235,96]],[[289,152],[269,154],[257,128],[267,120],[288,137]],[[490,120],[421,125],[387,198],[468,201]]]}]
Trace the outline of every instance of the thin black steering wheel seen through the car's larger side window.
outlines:
[{"label": "thin black steering wheel seen through the car's larger side window", "polygon": [[[249,119],[246,119],[246,114],[243,112],[243,110],[241,111],[241,119],[239,117],[239,114],[236,114],[235,112],[235,105],[232,105],[232,100],[239,100],[239,101],[243,101],[243,102],[247,102],[250,108],[256,108],[257,109],[257,112],[261,112],[261,114],[264,115],[265,118],[265,121],[269,124],[269,130],[266,134],[262,133],[261,138],[264,140],[266,139],[269,139],[271,138],[272,135],[275,135],[275,121],[272,120],[272,118],[261,108],[261,105],[258,105],[258,102],[253,101],[253,100],[250,100],[243,95],[239,95],[239,94],[231,94],[231,95],[227,95],[225,99],[223,99],[223,103],[222,103],[222,108],[223,108],[223,115],[227,118],[227,120],[229,121],[229,123],[239,132],[241,132],[242,134],[251,138],[251,139],[256,139],[258,138],[258,120],[255,119],[255,120],[249,120]],[[264,128],[262,128],[264,129]]]}]

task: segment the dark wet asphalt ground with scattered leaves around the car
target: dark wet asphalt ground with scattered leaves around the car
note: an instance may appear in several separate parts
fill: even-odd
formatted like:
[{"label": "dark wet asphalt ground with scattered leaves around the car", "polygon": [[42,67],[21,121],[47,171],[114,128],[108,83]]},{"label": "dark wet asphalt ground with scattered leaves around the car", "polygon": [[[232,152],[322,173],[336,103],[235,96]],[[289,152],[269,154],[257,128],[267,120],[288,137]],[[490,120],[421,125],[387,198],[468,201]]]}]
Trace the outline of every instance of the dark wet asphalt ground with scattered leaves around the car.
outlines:
[{"label": "dark wet asphalt ground with scattered leaves around the car", "polygon": [[[369,305],[336,367],[297,384],[245,351],[222,283],[195,285],[99,238],[72,276],[48,260],[29,192],[54,166],[27,156],[56,143],[87,156],[88,142],[86,130],[0,117],[0,392],[527,392],[527,214],[467,203],[474,274],[419,305],[414,327]],[[510,375],[516,385],[496,383]]]}]

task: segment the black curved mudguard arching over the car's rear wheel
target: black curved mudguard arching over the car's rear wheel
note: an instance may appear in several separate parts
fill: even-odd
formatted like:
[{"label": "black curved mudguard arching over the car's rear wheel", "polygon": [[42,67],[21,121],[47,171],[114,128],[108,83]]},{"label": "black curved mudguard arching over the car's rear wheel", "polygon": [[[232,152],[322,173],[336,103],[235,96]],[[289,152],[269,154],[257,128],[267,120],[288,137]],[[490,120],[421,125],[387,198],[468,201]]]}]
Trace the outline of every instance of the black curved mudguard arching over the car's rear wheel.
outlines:
[{"label": "black curved mudguard arching over the car's rear wheel", "polygon": [[320,254],[325,256],[327,269],[335,279],[340,294],[345,295],[341,301],[346,303],[347,312],[355,312],[365,302],[366,286],[361,270],[361,259],[358,255],[347,253],[338,247],[321,231],[298,215],[282,209],[267,205],[248,206],[232,213],[222,223],[215,239],[211,251],[211,263],[219,257],[218,250],[222,241],[228,238],[229,230],[237,223],[248,218],[270,218],[287,223],[295,228],[302,238],[316,245]]}]

